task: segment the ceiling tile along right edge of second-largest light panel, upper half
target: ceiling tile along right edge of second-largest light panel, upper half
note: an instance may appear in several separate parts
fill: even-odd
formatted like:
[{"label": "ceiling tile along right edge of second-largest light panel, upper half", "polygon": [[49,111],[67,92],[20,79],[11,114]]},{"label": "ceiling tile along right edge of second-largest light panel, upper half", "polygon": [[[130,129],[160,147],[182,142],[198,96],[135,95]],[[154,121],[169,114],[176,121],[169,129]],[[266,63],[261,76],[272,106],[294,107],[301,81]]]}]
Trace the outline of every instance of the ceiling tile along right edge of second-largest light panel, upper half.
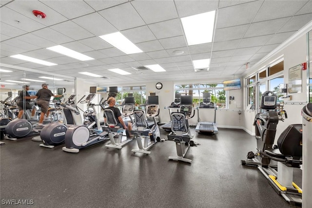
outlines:
[{"label": "ceiling tile along right edge of second-largest light panel, upper half", "polygon": [[146,25],[123,30],[121,33],[133,43],[145,42],[156,39],[154,34]]}]

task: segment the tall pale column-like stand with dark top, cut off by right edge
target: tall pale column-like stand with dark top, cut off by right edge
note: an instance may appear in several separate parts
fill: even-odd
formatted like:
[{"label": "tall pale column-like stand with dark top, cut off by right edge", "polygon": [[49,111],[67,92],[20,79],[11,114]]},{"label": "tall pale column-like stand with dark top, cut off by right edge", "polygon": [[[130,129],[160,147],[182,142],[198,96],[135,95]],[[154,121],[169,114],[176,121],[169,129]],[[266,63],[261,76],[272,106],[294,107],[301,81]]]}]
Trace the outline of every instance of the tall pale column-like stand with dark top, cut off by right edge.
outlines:
[{"label": "tall pale column-like stand with dark top, cut off by right edge", "polygon": [[[305,161],[312,160],[312,103],[308,103],[302,108],[302,154]],[[312,164],[311,162],[303,163],[302,167],[302,207],[310,208],[312,205]]]}]

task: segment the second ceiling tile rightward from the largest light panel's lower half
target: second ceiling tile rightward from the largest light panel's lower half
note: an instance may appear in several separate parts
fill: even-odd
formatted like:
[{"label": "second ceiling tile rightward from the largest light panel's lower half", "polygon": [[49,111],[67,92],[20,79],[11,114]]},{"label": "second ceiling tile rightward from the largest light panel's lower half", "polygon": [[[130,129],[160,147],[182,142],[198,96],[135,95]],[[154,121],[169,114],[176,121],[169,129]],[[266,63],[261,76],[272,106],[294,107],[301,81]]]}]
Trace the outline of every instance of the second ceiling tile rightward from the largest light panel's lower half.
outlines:
[{"label": "second ceiling tile rightward from the largest light panel's lower half", "polygon": [[291,18],[255,22],[250,25],[244,38],[275,34]]}]

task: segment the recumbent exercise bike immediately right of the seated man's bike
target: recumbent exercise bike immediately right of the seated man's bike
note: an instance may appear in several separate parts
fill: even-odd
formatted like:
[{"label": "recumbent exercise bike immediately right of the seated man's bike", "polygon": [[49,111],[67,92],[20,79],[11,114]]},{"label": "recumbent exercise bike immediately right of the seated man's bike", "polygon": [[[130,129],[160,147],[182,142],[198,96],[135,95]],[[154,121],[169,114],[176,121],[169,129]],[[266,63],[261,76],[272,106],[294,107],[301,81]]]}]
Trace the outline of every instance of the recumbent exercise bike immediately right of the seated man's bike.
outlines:
[{"label": "recumbent exercise bike immediately right of the seated man's bike", "polygon": [[[132,135],[135,135],[138,146],[138,149],[133,149],[132,152],[141,152],[148,155],[151,153],[151,151],[148,150],[156,142],[164,141],[164,139],[160,139],[160,131],[155,119],[155,116],[159,114],[159,106],[148,105],[146,108],[146,113],[142,110],[135,110],[133,112],[135,116],[135,128],[137,130],[131,131],[131,133]],[[147,117],[153,118],[154,120],[154,125],[151,129],[148,128]],[[142,142],[143,139],[144,142]]]}]

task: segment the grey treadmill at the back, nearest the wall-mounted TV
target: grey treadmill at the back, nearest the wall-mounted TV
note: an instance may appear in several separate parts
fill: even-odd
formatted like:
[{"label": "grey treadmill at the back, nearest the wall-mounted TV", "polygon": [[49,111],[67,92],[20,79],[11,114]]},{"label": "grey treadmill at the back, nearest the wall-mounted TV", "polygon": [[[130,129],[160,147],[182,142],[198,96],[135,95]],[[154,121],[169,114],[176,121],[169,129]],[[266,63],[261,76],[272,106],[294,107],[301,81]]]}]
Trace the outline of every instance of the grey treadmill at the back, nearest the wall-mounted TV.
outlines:
[{"label": "grey treadmill at the back, nearest the wall-mounted TV", "polygon": [[198,123],[196,125],[195,131],[196,132],[211,132],[213,134],[217,133],[218,128],[216,127],[216,124],[215,124],[216,106],[213,102],[211,102],[211,94],[210,93],[203,93],[203,102],[201,102],[199,104],[199,108],[214,109],[214,111],[215,111],[214,122],[200,121],[199,111],[197,111]]}]

